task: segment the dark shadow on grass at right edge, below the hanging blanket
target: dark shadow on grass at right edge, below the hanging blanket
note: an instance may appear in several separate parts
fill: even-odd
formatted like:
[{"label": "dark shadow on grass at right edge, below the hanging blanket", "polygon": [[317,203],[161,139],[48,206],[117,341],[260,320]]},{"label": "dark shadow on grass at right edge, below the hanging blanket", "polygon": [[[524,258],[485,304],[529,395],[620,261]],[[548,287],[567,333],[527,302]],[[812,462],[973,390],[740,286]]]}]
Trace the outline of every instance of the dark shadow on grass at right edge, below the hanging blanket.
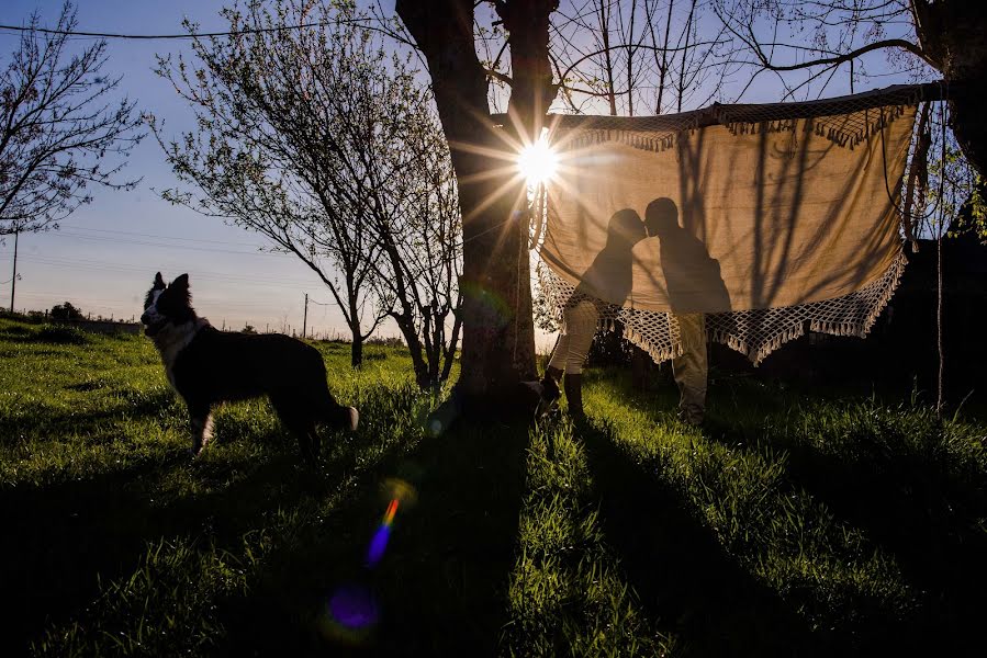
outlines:
[{"label": "dark shadow on grass at right edge, below the hanging blanket", "polygon": [[[776,439],[793,484],[862,529],[895,556],[917,592],[902,620],[860,629],[864,646],[899,655],[984,655],[987,591],[987,480],[975,464],[952,458],[942,430],[926,436],[854,435],[852,454],[826,453]],[[889,431],[894,431],[890,429]],[[710,436],[742,444],[730,428]]]}]

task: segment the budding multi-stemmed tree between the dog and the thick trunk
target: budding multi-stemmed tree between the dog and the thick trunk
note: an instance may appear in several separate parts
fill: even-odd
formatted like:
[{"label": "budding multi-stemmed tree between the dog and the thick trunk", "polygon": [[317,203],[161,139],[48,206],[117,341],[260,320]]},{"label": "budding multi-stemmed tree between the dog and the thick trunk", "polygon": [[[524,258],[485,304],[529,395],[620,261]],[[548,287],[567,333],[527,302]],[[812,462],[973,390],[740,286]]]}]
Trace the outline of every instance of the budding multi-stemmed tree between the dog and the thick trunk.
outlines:
[{"label": "budding multi-stemmed tree between the dog and the thick trunk", "polygon": [[[197,66],[159,61],[199,127],[166,144],[152,122],[179,179],[201,192],[165,197],[260,232],[312,269],[350,329],[354,366],[391,316],[419,384],[439,381],[430,353],[451,360],[458,340],[435,338],[435,324],[445,329],[456,308],[459,242],[434,242],[458,214],[437,202],[455,188],[430,97],[351,5],[251,0],[223,15],[234,35],[195,39]],[[451,274],[422,279],[441,266]]]}]

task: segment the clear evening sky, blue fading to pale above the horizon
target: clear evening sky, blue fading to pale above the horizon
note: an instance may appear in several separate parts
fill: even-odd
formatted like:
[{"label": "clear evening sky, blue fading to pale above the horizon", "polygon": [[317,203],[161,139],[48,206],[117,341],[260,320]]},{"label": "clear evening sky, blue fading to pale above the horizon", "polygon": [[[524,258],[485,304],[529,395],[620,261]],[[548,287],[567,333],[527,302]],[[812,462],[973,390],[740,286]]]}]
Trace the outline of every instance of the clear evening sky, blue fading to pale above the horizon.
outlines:
[{"label": "clear evening sky, blue fading to pale above the horizon", "polygon": [[[43,25],[54,25],[63,0],[3,0],[0,24],[23,24],[38,10]],[[78,0],[78,31],[130,34],[180,34],[188,16],[203,32],[227,27],[218,16],[222,0]],[[0,31],[0,61],[18,47],[19,35]],[[79,45],[92,39],[78,39]],[[122,75],[121,90],[136,100],[137,110],[164,120],[166,136],[178,136],[192,127],[192,114],[166,80],[153,72],[156,54],[190,50],[188,41],[109,39],[108,76]],[[878,64],[879,67],[879,64]],[[765,80],[767,78],[765,77]],[[901,82],[887,78],[878,87]],[[846,93],[838,79],[826,95]],[[744,102],[777,100],[777,92],[763,88],[744,94]],[[266,245],[256,234],[227,226],[223,220],[199,215],[162,201],[158,191],[176,185],[160,146],[148,135],[132,151],[123,171],[141,179],[133,191],[93,190],[91,204],[80,206],[60,223],[60,230],[22,235],[18,253],[14,306],[16,309],[49,309],[69,300],[93,317],[139,317],[144,294],[154,274],[166,280],[189,273],[193,304],[213,325],[242,329],[299,332],[305,294],[307,332],[317,337],[348,337],[341,314],[328,290],[295,257],[260,251]],[[10,305],[13,241],[0,245],[0,304]],[[397,336],[392,324],[378,332]],[[552,336],[539,331],[540,351],[551,348]]]}]

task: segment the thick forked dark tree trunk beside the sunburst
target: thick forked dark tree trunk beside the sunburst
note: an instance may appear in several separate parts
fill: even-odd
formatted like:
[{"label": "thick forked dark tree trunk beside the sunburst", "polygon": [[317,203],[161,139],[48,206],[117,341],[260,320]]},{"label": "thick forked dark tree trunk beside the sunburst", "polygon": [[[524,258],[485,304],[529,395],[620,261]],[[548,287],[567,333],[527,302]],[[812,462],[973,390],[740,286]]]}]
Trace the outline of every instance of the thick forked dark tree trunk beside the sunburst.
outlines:
[{"label": "thick forked dark tree trunk beside the sunburst", "polygon": [[[528,118],[531,111],[543,114],[551,101],[543,83],[549,71],[548,14],[554,7],[554,0],[498,5],[505,25],[516,30],[511,35],[511,105],[523,113],[529,129],[540,127],[540,118]],[[395,9],[428,63],[459,185],[463,334],[458,393],[495,401],[520,379],[536,375],[528,218],[520,212],[526,204],[524,182],[503,172],[505,162],[489,155],[505,151],[506,145],[498,134],[503,128],[490,116],[487,79],[473,43],[473,0],[397,0]],[[523,18],[528,19],[525,25]]]}]

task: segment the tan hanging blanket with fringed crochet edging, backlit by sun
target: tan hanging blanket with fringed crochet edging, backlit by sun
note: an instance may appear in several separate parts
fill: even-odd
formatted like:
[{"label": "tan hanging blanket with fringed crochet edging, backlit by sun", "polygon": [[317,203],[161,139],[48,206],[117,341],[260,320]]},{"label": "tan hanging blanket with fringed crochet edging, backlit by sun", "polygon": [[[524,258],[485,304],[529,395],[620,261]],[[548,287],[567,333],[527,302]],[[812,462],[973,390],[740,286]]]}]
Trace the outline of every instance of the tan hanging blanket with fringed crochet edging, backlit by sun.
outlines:
[{"label": "tan hanging blanket with fringed crochet edging, backlit by sun", "polygon": [[676,315],[755,364],[806,330],[863,337],[905,264],[898,206],[918,98],[714,105],[663,117],[561,117],[542,287],[655,361]]}]

